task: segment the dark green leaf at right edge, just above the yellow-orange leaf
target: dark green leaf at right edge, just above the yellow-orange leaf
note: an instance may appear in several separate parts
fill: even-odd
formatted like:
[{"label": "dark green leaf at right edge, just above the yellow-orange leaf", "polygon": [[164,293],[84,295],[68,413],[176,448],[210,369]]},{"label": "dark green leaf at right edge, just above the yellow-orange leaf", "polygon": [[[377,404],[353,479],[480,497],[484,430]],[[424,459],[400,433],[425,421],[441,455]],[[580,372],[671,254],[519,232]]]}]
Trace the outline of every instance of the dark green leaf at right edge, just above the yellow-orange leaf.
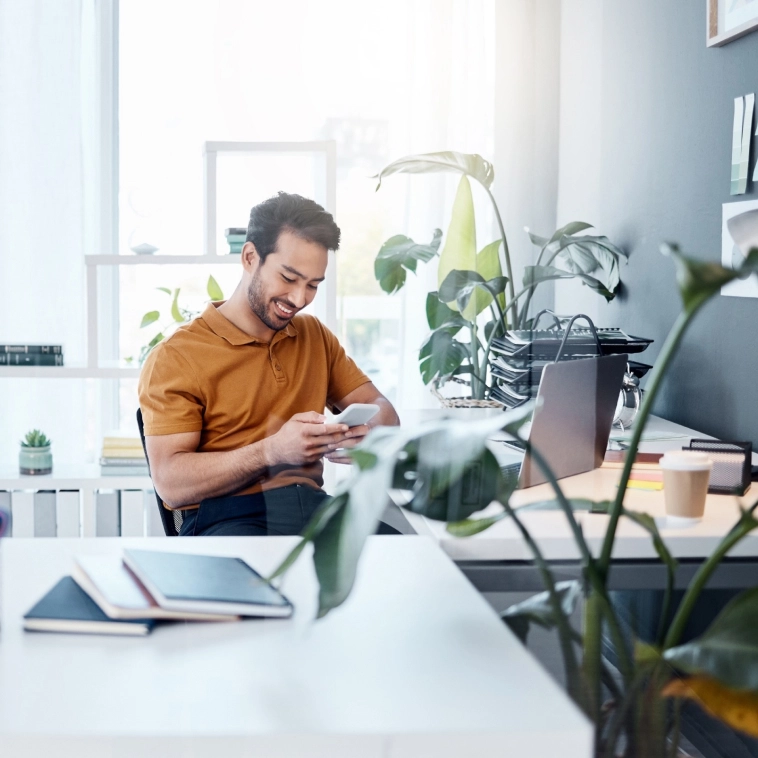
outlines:
[{"label": "dark green leaf at right edge, just above the yellow-orange leaf", "polygon": [[758,588],[732,600],[708,630],[664,658],[690,674],[706,674],[735,689],[758,691]]}]

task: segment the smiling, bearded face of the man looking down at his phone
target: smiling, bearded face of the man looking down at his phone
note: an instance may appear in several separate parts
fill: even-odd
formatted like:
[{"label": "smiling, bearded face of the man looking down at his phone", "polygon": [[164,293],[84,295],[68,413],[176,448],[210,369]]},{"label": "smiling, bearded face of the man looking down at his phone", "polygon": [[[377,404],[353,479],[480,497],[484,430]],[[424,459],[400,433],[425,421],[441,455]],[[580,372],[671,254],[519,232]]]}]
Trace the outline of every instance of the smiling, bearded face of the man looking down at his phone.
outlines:
[{"label": "smiling, bearded face of the man looking down at his phone", "polygon": [[255,255],[247,288],[250,309],[269,329],[284,329],[316,296],[328,260],[325,247],[282,232],[265,262]]}]

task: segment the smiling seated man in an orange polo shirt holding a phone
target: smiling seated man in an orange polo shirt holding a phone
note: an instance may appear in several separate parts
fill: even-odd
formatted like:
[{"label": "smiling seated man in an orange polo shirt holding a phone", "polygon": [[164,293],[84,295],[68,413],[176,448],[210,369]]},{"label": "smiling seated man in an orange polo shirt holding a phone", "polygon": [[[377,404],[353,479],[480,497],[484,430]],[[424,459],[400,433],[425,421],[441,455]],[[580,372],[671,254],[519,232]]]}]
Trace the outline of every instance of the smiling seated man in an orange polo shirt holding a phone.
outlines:
[{"label": "smiling seated man in an orange polo shirt holding a phone", "polygon": [[[312,200],[280,192],[255,206],[232,296],[150,353],[139,381],[147,454],[166,505],[188,509],[182,535],[300,533],[328,497],[323,458],[346,463],[370,426],[399,423],[337,338],[299,313],[339,240]],[[351,403],[380,410],[368,425],[325,423],[326,406]]]}]

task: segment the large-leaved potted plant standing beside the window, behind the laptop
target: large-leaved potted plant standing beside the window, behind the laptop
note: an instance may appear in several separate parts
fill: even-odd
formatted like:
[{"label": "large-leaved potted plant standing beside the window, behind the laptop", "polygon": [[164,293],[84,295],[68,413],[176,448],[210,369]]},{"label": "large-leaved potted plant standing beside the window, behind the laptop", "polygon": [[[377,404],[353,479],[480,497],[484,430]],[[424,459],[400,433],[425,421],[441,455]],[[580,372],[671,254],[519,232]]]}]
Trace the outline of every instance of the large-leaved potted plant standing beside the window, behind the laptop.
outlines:
[{"label": "large-leaved potted plant standing beside the window, behind the laptop", "polygon": [[[438,289],[426,300],[431,333],[419,351],[419,368],[425,384],[439,386],[449,380],[468,384],[471,397],[489,396],[488,360],[492,340],[509,327],[531,326],[529,307],[535,289],[547,281],[579,279],[590,289],[612,300],[619,286],[619,263],[626,255],[606,237],[580,235],[592,227],[573,221],[551,237],[529,237],[540,252],[535,265],[526,266],[522,286],[514,286],[508,240],[497,203],[491,192],[495,170],[479,155],[444,152],[410,155],[383,168],[382,180],[397,173],[455,172],[461,174],[453,202],[450,225],[434,230],[428,244],[398,234],[381,247],[374,274],[381,288],[392,294],[415,273],[419,262],[437,259]],[[476,217],[469,179],[478,182],[492,202],[500,236],[481,250],[476,240]]]}]

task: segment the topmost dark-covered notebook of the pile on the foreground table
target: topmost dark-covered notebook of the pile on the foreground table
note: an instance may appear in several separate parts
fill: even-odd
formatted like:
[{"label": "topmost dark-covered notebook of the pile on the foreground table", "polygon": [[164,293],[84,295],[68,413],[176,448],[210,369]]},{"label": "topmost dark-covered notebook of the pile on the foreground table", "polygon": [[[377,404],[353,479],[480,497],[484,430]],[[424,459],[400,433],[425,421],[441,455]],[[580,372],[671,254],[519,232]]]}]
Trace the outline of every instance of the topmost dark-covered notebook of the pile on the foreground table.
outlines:
[{"label": "topmost dark-covered notebook of the pile on the foreground table", "polygon": [[288,617],[292,604],[241,558],[125,550],[124,563],[162,608]]}]

